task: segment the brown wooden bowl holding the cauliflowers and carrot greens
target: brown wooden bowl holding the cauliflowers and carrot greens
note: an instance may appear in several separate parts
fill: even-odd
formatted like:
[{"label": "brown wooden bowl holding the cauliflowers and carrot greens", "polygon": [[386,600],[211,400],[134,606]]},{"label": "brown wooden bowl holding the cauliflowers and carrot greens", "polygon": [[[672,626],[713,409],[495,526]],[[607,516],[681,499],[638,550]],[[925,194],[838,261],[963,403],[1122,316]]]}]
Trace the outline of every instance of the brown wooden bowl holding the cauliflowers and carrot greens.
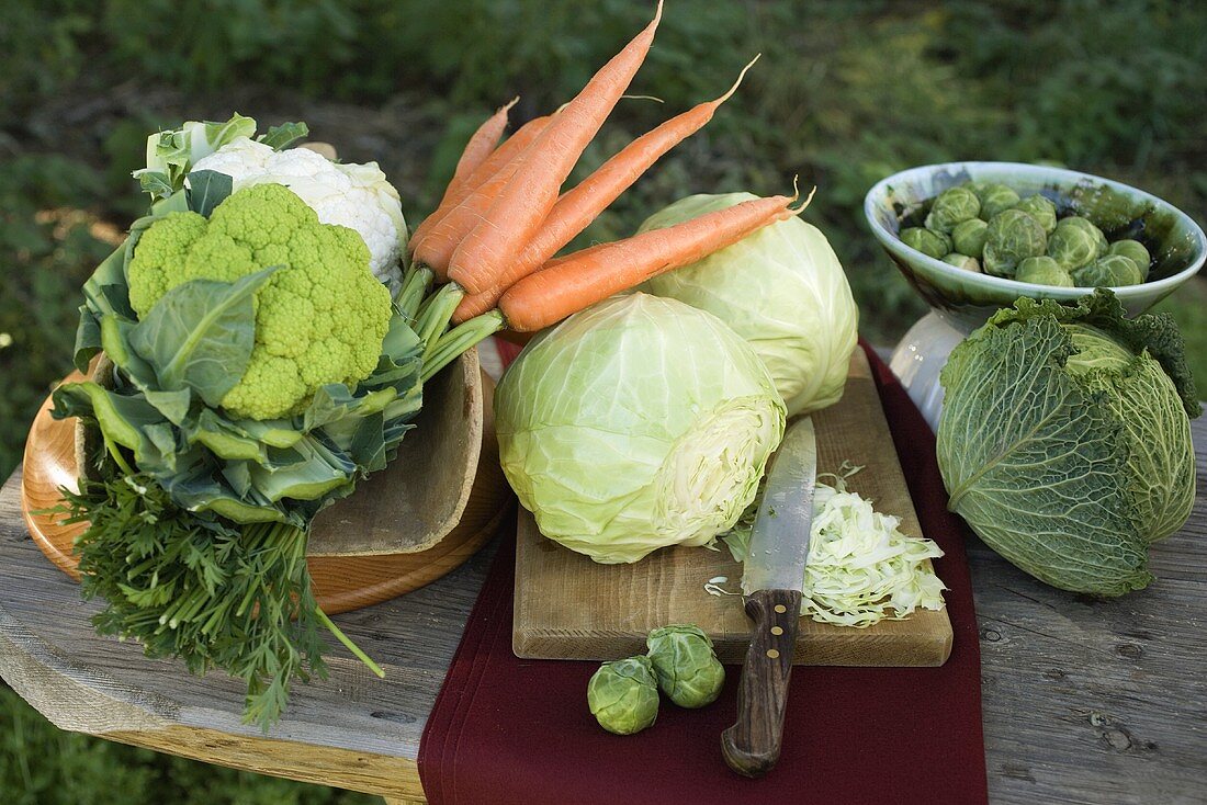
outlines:
[{"label": "brown wooden bowl holding the cauliflowers and carrot greens", "polygon": [[[68,381],[81,380],[74,373]],[[472,556],[503,523],[512,495],[498,465],[492,383],[476,351],[424,390],[416,427],[386,469],[316,518],[308,550],[319,605],[337,613],[419,589]],[[78,579],[72,553],[82,524],[40,514],[75,489],[83,428],[51,416],[47,398],[25,443],[22,511],[47,558]],[[78,430],[78,433],[77,433]]]}]

